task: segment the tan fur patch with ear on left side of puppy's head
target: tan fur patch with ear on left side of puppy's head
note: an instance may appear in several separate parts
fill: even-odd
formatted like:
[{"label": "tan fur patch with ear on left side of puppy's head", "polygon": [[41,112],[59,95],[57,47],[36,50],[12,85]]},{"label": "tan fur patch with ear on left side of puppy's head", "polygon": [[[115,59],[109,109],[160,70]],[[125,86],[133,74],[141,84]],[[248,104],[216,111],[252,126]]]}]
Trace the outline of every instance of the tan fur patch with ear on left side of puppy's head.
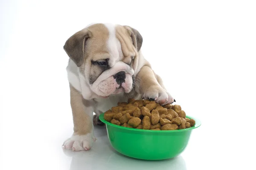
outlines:
[{"label": "tan fur patch with ear on left side of puppy's head", "polygon": [[91,84],[108,69],[92,64],[92,61],[110,58],[108,38],[108,28],[98,23],[76,32],[64,45],[67,55],[79,66],[81,73],[84,73],[85,67],[90,67]]}]

